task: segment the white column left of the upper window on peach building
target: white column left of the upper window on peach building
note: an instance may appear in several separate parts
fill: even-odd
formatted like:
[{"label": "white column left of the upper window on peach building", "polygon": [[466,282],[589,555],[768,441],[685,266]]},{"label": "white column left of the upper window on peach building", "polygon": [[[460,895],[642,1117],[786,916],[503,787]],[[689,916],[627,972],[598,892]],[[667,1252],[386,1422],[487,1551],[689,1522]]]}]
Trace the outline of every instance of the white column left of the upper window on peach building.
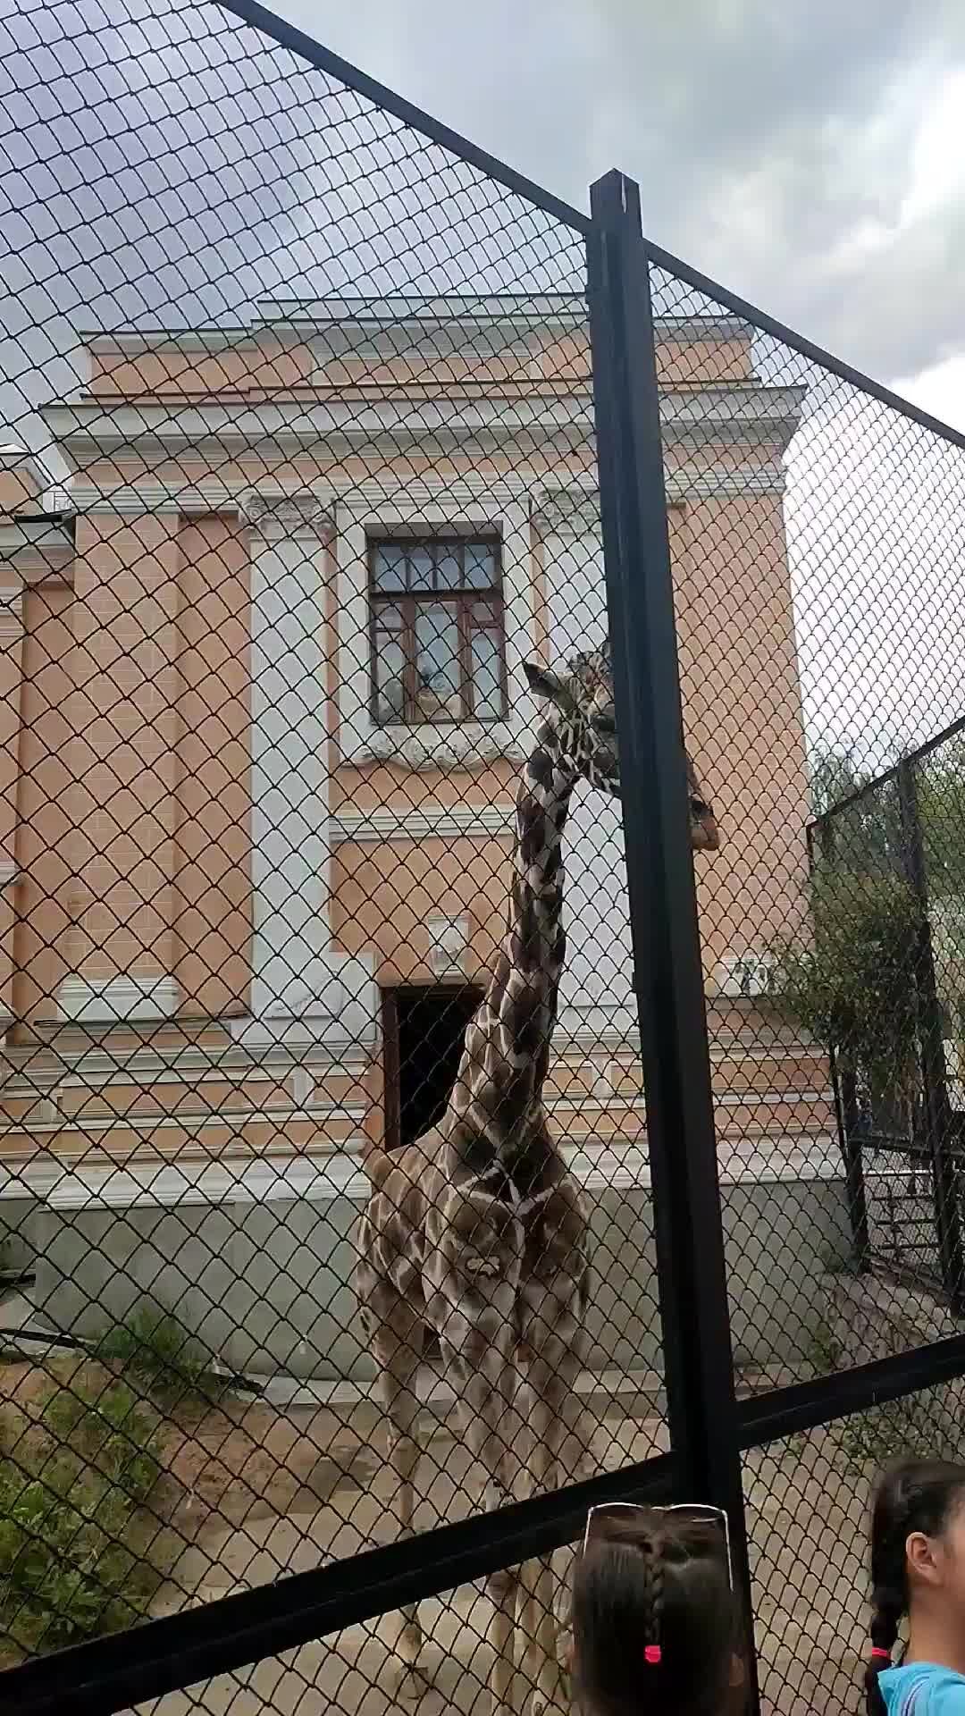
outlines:
[{"label": "white column left of the upper window on peach building", "polygon": [[330,947],[325,585],[331,515],[311,491],[252,492],[251,1019],[246,1043],[371,1040],[371,966]]}]

